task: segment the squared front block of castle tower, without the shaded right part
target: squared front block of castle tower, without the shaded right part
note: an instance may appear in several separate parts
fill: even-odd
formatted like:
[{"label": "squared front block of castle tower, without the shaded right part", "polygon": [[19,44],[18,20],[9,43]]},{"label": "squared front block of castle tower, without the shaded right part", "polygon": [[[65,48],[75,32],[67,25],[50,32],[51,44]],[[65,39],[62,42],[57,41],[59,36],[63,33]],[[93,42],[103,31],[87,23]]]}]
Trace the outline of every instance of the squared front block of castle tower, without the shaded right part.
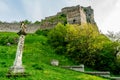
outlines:
[{"label": "squared front block of castle tower, without the shaded right part", "polygon": [[67,15],[67,22],[69,24],[86,23],[86,15],[81,6],[66,7],[62,12]]}]

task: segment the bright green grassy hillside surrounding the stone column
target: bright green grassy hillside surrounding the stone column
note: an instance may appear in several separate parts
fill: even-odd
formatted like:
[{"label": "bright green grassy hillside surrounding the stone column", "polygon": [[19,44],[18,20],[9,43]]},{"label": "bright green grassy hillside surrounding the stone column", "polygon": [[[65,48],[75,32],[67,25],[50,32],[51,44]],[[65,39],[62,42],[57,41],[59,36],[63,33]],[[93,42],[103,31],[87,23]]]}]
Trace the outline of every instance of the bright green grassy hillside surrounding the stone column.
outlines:
[{"label": "bright green grassy hillside surrounding the stone column", "polygon": [[[0,40],[4,38],[18,37],[16,33],[0,33]],[[11,40],[10,40],[11,41]],[[74,65],[65,56],[55,54],[47,38],[42,35],[28,34],[25,40],[23,65],[27,77],[11,77],[7,78],[5,75],[9,68],[13,65],[17,44],[11,46],[0,44],[0,80],[107,80],[101,77],[96,77],[72,70],[62,69],[50,65],[52,59],[60,61],[60,65]]]}]

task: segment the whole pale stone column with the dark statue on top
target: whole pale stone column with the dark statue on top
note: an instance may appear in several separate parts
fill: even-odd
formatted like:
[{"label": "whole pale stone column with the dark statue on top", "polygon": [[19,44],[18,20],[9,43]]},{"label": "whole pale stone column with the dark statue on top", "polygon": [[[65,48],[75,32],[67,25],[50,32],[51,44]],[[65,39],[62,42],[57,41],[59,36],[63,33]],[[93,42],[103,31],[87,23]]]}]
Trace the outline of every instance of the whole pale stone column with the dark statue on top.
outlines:
[{"label": "whole pale stone column with the dark statue on top", "polygon": [[20,28],[21,30],[17,33],[20,37],[17,46],[16,57],[13,66],[10,68],[10,72],[12,73],[24,73],[24,67],[22,66],[22,53],[26,35],[26,26],[23,22],[21,23]]}]

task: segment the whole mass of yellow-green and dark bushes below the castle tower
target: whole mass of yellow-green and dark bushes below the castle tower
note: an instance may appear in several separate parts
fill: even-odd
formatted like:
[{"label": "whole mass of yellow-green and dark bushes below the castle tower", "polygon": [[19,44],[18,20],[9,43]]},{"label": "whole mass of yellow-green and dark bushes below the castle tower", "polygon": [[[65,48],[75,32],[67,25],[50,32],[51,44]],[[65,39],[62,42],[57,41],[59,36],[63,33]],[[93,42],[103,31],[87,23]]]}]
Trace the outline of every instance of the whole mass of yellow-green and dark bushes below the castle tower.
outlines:
[{"label": "whole mass of yellow-green and dark bushes below the castle tower", "polygon": [[76,64],[120,74],[120,63],[116,58],[119,42],[101,34],[95,25],[59,23],[49,32],[48,41],[57,54],[67,56]]}]

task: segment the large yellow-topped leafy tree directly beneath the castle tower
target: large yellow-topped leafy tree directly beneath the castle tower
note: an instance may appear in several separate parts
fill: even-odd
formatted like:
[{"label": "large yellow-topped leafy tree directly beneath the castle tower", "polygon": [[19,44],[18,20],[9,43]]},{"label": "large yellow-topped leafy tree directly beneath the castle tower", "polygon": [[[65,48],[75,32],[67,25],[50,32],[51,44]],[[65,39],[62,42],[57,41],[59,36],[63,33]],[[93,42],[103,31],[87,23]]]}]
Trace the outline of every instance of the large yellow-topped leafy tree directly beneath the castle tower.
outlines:
[{"label": "large yellow-topped leafy tree directly beneath the castle tower", "polygon": [[73,58],[76,63],[86,65],[94,65],[95,52],[101,48],[99,43],[96,43],[96,37],[99,36],[99,31],[95,25],[67,25],[66,39],[67,55]]}]

